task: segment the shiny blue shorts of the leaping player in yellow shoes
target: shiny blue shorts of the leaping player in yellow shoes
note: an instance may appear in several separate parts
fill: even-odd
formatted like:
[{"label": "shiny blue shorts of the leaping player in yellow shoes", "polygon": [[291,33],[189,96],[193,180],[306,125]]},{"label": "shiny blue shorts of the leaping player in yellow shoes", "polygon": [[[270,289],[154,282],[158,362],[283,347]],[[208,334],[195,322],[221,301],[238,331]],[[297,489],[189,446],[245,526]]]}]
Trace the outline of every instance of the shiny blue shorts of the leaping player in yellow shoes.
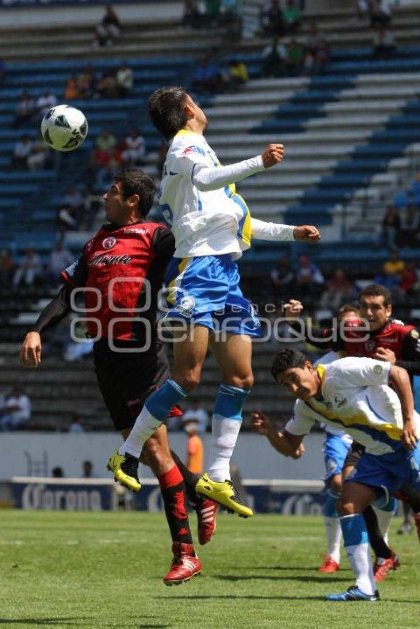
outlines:
[{"label": "shiny blue shorts of the leaping player in yellow shoes", "polygon": [[173,258],[167,270],[168,311],[163,323],[184,320],[212,333],[260,336],[260,321],[239,286],[231,254]]}]

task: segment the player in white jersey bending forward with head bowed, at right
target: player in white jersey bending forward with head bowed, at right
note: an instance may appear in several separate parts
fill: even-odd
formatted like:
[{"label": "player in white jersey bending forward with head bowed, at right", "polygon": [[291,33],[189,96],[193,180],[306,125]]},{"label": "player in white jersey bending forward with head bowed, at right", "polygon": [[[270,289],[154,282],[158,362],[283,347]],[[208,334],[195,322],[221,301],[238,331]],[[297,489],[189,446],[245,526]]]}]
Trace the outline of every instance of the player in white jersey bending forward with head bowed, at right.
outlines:
[{"label": "player in white jersey bending forward with head bowed, at right", "polygon": [[255,430],[267,435],[276,450],[299,457],[304,435],[315,421],[344,428],[365,446],[337,502],[356,584],[326,599],[377,601],[362,514],[375,499],[394,493],[404,482],[420,489],[420,416],[414,411],[409,376],[401,367],[370,358],[348,357],[314,367],[304,354],[289,348],[275,356],[272,374],[298,398],[294,416],[280,433],[262,413],[253,414]]}]

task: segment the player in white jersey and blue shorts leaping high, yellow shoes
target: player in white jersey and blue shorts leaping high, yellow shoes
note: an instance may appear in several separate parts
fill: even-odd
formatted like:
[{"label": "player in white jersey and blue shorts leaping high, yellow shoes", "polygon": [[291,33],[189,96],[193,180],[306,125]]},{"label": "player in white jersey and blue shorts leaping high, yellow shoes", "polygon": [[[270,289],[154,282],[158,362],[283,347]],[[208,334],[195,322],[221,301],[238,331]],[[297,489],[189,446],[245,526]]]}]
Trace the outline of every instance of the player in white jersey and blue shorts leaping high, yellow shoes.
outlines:
[{"label": "player in white jersey and blue shorts leaping high, yellow shoes", "polygon": [[[122,484],[138,484],[133,460],[167,416],[167,410],[199,384],[210,345],[222,382],[214,405],[207,473],[197,492],[243,517],[253,515],[230,481],[229,462],[253,384],[251,337],[260,324],[243,297],[235,260],[250,247],[251,237],[266,240],[319,240],[312,226],[288,226],[251,219],[235,182],[278,164],[282,145],[269,145],[252,159],[221,166],[204,139],[207,118],[182,87],[162,87],[148,102],[150,117],[170,147],[163,167],[159,201],[175,236],[169,265],[166,321],[174,330],[172,379],[146,401],[130,436],[111,455],[108,466]],[[222,331],[221,334],[215,334]],[[127,482],[126,482],[127,481]]]}]

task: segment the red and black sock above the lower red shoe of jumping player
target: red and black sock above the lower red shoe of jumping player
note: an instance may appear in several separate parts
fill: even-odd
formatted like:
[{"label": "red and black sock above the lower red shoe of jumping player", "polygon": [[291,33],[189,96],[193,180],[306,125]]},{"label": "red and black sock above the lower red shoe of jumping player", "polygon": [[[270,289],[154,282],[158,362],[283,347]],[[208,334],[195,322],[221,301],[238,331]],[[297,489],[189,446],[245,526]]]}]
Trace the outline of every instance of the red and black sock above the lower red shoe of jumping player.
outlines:
[{"label": "red and black sock above the lower red shoe of jumping player", "polygon": [[166,519],[173,542],[192,544],[187,511],[187,492],[177,465],[158,476]]}]

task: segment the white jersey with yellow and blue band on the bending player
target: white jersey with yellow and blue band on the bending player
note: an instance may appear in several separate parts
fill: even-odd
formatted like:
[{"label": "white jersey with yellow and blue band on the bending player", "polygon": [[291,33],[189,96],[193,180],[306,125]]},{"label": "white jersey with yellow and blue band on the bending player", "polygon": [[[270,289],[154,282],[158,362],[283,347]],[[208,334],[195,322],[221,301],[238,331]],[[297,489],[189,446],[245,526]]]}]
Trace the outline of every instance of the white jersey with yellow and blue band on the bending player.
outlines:
[{"label": "white jersey with yellow and blue band on the bending player", "polygon": [[[316,367],[321,399],[298,399],[285,426],[292,435],[307,435],[316,420],[344,428],[366,452],[389,454],[401,445],[401,404],[388,386],[390,363],[347,357]],[[414,413],[417,428],[420,417]]]}]

